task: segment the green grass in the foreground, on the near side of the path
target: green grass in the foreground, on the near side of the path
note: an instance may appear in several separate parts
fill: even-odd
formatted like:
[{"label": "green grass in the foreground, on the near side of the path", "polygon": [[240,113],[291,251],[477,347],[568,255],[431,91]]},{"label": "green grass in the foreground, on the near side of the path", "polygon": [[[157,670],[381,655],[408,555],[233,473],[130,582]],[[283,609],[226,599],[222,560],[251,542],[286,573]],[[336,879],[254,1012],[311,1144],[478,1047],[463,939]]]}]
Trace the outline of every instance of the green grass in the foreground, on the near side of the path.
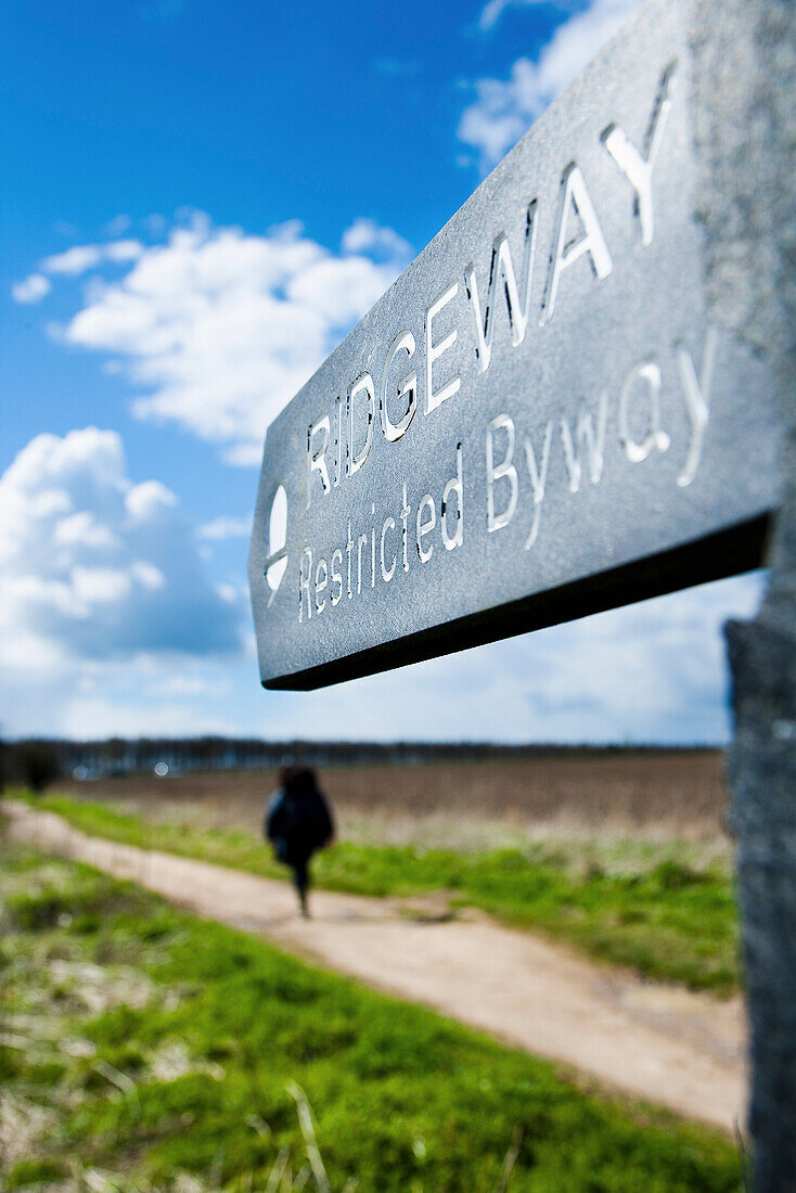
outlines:
[{"label": "green grass in the foreground, on the near side of the path", "polygon": [[739,1188],[717,1135],[132,884],[4,846],[0,895],[6,1189],[291,1189],[294,1082],[335,1193],[496,1193],[512,1146],[510,1193]]}]

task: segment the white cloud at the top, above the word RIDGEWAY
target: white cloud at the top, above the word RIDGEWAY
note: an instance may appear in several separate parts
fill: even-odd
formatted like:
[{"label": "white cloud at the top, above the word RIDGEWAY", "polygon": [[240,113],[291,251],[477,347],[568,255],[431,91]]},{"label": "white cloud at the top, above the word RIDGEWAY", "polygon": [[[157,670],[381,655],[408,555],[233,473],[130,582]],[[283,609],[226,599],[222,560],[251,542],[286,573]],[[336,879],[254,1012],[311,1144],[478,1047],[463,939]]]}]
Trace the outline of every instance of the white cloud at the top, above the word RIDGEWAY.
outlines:
[{"label": "white cloud at the top, above the word RIDGEWAY", "polygon": [[[479,150],[485,172],[519,141],[638,4],[640,0],[593,0],[557,26],[536,61],[518,58],[508,79],[476,81],[476,100],[462,112],[457,135]],[[494,25],[505,7],[507,2],[502,0],[487,4],[481,13],[482,27]]]}]

